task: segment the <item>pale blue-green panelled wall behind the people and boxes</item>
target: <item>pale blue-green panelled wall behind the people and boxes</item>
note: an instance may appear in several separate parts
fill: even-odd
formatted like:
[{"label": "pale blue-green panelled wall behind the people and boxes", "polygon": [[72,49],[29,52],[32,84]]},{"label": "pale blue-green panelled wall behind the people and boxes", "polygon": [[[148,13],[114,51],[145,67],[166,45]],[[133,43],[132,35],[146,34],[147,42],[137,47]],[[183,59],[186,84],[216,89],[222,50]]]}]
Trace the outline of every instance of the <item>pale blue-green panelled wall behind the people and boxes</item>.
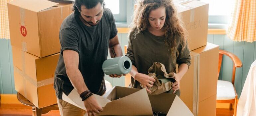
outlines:
[{"label": "pale blue-green panelled wall behind the people and boxes", "polygon": [[[124,45],[128,43],[127,33],[118,33],[119,42],[124,54]],[[234,42],[226,35],[208,35],[208,42],[220,46],[220,49],[234,53],[242,61],[243,67],[237,68],[235,77],[236,91],[240,96],[242,87],[247,77],[250,65],[256,59],[256,43]],[[110,57],[108,57],[110,58]],[[0,91],[6,94],[15,94],[13,79],[13,63],[10,40],[0,39]],[[219,80],[231,81],[232,61],[224,56],[223,66],[220,71]],[[124,86],[124,77],[110,78],[105,76],[112,86]]]}]

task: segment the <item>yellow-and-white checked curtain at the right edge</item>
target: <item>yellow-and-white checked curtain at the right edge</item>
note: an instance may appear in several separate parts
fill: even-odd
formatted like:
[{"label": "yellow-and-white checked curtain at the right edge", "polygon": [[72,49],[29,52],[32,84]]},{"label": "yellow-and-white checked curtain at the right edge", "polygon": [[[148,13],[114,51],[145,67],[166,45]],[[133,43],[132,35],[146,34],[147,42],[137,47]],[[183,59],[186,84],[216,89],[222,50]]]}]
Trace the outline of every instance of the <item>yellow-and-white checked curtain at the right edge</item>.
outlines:
[{"label": "yellow-and-white checked curtain at the right edge", "polygon": [[234,41],[256,41],[256,0],[236,0],[227,36]]}]

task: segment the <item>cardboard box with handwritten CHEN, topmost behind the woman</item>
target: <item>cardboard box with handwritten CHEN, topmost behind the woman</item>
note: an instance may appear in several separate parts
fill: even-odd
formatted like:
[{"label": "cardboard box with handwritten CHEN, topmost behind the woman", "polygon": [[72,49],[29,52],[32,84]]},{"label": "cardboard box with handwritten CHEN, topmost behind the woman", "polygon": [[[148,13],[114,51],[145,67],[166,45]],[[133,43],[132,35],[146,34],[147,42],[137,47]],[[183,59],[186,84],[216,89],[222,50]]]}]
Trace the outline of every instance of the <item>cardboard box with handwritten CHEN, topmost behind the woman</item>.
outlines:
[{"label": "cardboard box with handwritten CHEN, topmost behind the woman", "polygon": [[174,3],[189,32],[189,49],[192,51],[206,45],[209,4],[197,0],[174,0]]}]

